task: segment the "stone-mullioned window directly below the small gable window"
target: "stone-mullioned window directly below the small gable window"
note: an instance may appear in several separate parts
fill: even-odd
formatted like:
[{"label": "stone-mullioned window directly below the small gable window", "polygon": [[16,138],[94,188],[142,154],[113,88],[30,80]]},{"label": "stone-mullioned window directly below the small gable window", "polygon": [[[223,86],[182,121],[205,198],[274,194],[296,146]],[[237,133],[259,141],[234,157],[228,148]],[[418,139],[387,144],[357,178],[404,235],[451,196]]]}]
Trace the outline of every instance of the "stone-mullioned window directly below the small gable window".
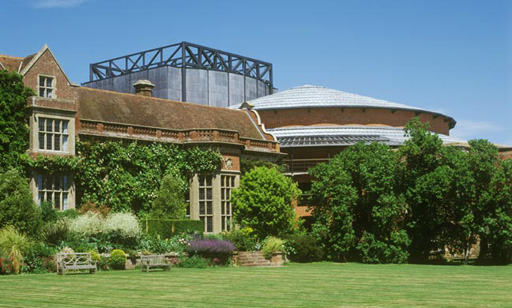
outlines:
[{"label": "stone-mullioned window directly below the small gable window", "polygon": [[[41,121],[44,121],[43,123],[43,126],[41,126]],[[53,124],[52,124],[52,130],[49,131],[48,130],[48,122],[47,121],[53,121]],[[59,121],[60,122],[60,125],[59,125],[59,131],[55,131],[55,121]],[[70,151],[70,147],[72,146],[71,145],[71,138],[72,138],[72,132],[71,132],[71,121],[72,119],[70,118],[65,118],[65,117],[59,117],[59,116],[54,116],[54,115],[47,115],[47,114],[39,114],[36,116],[36,119],[35,119],[35,126],[36,126],[36,131],[35,131],[35,140],[37,142],[36,146],[35,146],[35,150],[37,150],[38,152],[49,152],[49,153],[71,153],[72,151]],[[66,127],[67,127],[67,131],[65,132],[64,131],[64,123],[66,123]],[[41,127],[44,129],[43,131],[41,131]],[[43,148],[41,148],[42,144],[41,144],[41,135],[43,135]],[[48,148],[48,135],[52,135],[52,141],[51,141],[51,147]],[[55,137],[56,136],[59,136],[59,150],[55,150]],[[65,141],[64,141],[65,140]]]}]

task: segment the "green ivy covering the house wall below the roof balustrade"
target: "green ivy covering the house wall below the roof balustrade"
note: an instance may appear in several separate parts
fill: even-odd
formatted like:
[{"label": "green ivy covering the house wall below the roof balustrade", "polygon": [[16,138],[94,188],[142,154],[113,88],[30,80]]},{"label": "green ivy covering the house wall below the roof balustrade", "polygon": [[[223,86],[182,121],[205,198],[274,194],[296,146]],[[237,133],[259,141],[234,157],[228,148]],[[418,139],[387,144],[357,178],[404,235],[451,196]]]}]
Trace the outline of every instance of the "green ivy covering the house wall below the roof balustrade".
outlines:
[{"label": "green ivy covering the house wall below the roof balustrade", "polygon": [[149,212],[164,175],[186,180],[194,173],[216,173],[222,162],[212,150],[120,141],[77,142],[77,156],[77,204],[94,202],[139,214]]}]

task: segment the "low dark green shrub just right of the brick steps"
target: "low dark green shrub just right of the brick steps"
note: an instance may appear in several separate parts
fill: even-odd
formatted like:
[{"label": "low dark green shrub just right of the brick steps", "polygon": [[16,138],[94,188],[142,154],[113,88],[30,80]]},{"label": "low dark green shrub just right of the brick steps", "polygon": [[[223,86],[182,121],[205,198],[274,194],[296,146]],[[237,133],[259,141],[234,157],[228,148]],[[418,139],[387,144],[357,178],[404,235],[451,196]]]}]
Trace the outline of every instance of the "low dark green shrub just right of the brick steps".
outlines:
[{"label": "low dark green shrub just right of the brick steps", "polygon": [[287,257],[294,262],[315,262],[323,258],[323,250],[311,235],[295,235],[286,240]]}]

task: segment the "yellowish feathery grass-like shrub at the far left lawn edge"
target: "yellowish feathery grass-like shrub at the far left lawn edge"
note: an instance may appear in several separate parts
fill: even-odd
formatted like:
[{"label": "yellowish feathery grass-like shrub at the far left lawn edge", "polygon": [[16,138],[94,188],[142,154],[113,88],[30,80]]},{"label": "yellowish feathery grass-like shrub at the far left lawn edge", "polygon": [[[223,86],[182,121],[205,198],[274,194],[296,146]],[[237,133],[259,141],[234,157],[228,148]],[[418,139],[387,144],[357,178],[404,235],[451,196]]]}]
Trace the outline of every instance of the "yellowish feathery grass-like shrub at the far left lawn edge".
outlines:
[{"label": "yellowish feathery grass-like shrub at the far left lawn edge", "polygon": [[0,253],[9,256],[12,261],[12,270],[20,273],[23,265],[23,255],[30,247],[28,237],[16,230],[13,226],[7,226],[0,230]]}]

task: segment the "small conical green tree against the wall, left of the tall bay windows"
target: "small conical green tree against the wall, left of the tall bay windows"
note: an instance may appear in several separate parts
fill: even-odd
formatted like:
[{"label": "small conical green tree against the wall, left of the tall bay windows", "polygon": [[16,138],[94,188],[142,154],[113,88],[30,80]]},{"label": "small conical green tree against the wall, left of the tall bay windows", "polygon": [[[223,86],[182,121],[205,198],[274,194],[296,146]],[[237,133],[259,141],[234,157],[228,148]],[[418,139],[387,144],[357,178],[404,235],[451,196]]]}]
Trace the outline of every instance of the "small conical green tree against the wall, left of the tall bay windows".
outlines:
[{"label": "small conical green tree against the wall, left of the tall bay windows", "polygon": [[160,190],[150,211],[153,218],[185,218],[187,184],[181,178],[168,174],[162,179]]}]

